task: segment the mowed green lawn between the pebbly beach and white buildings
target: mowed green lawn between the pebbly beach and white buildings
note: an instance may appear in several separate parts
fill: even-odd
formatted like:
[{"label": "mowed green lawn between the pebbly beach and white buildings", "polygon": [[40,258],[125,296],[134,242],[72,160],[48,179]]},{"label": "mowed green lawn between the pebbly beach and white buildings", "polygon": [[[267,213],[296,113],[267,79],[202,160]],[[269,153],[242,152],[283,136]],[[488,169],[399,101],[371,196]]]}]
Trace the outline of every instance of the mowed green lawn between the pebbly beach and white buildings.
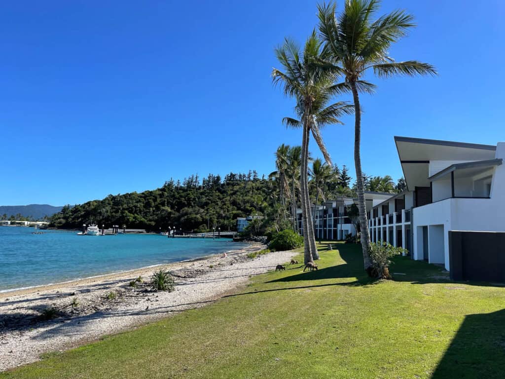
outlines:
[{"label": "mowed green lawn between the pebbly beach and white buildings", "polygon": [[320,247],[318,271],[256,276],[210,306],[0,378],[504,377],[504,288],[407,257],[391,266],[406,275],[373,282],[359,246]]}]

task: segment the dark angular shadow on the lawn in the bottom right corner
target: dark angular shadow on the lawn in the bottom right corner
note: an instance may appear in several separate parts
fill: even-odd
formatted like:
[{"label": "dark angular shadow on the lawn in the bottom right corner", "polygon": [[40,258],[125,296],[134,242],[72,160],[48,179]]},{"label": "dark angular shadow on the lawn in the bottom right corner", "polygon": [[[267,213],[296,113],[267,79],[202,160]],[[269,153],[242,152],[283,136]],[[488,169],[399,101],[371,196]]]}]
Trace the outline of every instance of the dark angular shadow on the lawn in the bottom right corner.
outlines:
[{"label": "dark angular shadow on the lawn in the bottom right corner", "polygon": [[431,379],[502,378],[505,372],[505,309],[465,317]]}]

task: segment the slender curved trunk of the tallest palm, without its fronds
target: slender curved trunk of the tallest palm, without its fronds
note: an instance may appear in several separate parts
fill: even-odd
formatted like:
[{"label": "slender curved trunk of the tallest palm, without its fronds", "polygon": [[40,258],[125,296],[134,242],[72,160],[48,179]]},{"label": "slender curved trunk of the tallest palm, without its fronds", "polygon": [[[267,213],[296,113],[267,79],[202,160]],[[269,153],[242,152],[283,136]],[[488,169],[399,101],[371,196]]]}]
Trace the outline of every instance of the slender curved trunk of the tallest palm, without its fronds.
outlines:
[{"label": "slender curved trunk of the tallest palm, without its fronds", "polygon": [[363,188],[363,172],[361,170],[361,107],[360,97],[356,89],[356,83],[350,81],[352,89],[352,97],[355,107],[355,129],[354,129],[354,163],[356,166],[356,181],[358,195],[358,209],[360,211],[360,226],[361,226],[361,247],[363,250],[363,263],[365,270],[372,265],[370,259],[370,231],[368,230],[367,208],[365,204],[365,189]]}]

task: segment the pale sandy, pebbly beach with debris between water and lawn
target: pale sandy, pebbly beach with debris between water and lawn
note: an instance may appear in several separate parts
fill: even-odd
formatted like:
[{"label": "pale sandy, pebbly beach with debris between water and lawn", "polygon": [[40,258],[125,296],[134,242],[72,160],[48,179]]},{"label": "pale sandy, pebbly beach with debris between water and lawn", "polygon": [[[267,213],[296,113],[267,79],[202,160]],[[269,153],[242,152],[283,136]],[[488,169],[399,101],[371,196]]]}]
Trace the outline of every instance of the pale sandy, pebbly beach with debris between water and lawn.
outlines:
[{"label": "pale sandy, pebbly beach with debris between water and lawn", "polygon": [[[63,351],[98,338],[202,307],[243,286],[258,275],[285,263],[293,252],[273,252],[249,259],[261,244],[229,253],[163,266],[144,267],[0,293],[0,371],[40,359],[40,354]],[[148,281],[163,267],[173,274],[173,292],[150,291]],[[136,287],[131,280],[141,276]],[[113,294],[113,295],[111,295]],[[56,318],[43,320],[53,307]]]}]

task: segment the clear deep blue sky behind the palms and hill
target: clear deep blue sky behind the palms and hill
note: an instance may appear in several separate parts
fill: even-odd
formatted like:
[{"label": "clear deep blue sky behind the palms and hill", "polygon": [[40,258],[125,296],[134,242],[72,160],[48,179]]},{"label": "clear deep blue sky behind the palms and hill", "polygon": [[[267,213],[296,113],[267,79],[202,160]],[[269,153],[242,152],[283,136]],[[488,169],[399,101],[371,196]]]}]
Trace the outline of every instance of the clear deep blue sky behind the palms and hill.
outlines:
[{"label": "clear deep blue sky behind the palms and hill", "polygon": [[[439,70],[376,80],[363,97],[364,171],[396,180],[393,135],[505,140],[505,2],[385,0],[381,13],[395,8],[419,26],[391,55]],[[0,205],[82,203],[191,173],[268,174],[279,144],[301,142],[281,125],[293,101],[270,73],[283,37],[302,42],[315,26],[315,1],[6,2],[0,18]],[[324,138],[354,174],[344,121]]]}]

